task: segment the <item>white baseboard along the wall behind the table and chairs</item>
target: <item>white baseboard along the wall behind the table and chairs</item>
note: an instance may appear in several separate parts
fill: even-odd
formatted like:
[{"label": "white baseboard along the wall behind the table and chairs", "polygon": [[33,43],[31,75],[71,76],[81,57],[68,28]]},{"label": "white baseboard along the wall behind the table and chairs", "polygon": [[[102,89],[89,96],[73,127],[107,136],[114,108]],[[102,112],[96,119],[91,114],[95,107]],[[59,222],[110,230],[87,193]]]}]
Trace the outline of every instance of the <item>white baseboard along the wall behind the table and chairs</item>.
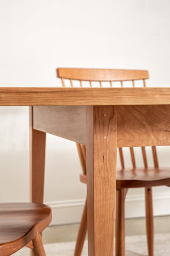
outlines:
[{"label": "white baseboard along the wall behind the table and chairs", "polygon": [[[170,193],[154,195],[154,216],[170,214]],[[62,225],[80,222],[84,199],[46,202],[53,212],[50,225]],[[125,217],[145,217],[145,197],[141,195],[127,196],[125,201]]]}]

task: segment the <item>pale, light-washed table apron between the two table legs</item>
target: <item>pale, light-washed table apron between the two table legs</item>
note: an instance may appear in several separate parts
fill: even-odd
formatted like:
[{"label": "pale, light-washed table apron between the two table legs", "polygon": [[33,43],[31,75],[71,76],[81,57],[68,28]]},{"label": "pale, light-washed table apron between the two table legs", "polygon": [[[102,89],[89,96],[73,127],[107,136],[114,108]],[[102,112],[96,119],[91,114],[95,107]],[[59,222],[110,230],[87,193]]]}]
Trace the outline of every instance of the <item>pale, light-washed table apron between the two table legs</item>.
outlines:
[{"label": "pale, light-washed table apron between the two table legs", "polygon": [[86,144],[86,106],[34,106],[33,129]]}]

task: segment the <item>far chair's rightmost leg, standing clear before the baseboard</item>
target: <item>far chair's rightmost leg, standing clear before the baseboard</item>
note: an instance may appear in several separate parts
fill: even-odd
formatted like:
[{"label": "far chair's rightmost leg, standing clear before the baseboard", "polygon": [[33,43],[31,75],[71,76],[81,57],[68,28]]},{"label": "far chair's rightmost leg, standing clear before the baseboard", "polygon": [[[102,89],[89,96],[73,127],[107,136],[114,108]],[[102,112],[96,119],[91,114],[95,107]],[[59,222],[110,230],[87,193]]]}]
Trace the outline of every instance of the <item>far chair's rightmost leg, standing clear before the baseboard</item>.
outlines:
[{"label": "far chair's rightmost leg, standing clear before the baseboard", "polygon": [[145,188],[145,207],[146,207],[146,231],[148,255],[154,255],[154,217],[152,207],[152,188]]}]

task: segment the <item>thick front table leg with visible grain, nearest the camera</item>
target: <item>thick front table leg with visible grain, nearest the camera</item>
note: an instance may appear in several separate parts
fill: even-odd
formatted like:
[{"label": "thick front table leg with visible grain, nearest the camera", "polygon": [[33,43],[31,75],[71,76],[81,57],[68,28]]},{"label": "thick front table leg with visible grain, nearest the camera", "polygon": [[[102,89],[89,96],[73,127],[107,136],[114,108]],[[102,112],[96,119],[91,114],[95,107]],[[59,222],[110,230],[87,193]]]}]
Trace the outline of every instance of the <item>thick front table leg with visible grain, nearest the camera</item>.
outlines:
[{"label": "thick front table leg with visible grain, nearest the camera", "polygon": [[87,106],[88,255],[113,256],[116,199],[117,112]]}]

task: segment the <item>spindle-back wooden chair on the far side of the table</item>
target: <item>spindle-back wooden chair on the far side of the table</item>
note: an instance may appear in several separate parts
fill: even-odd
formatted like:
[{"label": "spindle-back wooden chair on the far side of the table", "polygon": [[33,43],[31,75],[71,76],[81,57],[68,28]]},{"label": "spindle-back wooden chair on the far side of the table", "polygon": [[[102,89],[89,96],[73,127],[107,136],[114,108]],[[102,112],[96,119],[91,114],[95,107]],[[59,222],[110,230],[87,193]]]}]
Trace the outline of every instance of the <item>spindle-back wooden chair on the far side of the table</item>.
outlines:
[{"label": "spindle-back wooden chair on the far side of the table", "polygon": [[[149,78],[148,71],[124,70],[124,69],[79,69],[79,68],[58,68],[57,77],[61,78],[62,86],[66,87],[65,80],[70,81],[70,86],[74,87],[74,81],[79,81],[79,86],[92,87],[93,82],[98,82],[102,87],[107,82],[109,87],[114,86],[114,82],[119,82],[120,87],[124,87],[124,82],[131,81],[131,86],[135,87],[135,81],[142,80],[142,86],[146,87],[146,79]],[[86,183],[86,146],[76,143],[80,164],[83,174],[80,174],[80,181]],[[117,170],[116,181],[116,256],[125,255],[125,197],[128,188],[145,187],[146,196],[146,228],[148,254],[154,255],[154,225],[152,213],[152,186],[170,185],[169,168],[159,168],[156,147],[152,146],[152,155],[154,159],[154,168],[148,168],[146,148],[141,147],[144,168],[137,168],[134,156],[134,148],[130,147],[130,156],[133,168],[125,168],[124,155],[122,148],[118,148],[120,155],[121,170]],[[147,175],[151,174],[151,175]],[[84,239],[87,231],[87,201],[84,205],[82,220],[80,222],[78,237],[75,246],[75,256],[82,253]]]}]

